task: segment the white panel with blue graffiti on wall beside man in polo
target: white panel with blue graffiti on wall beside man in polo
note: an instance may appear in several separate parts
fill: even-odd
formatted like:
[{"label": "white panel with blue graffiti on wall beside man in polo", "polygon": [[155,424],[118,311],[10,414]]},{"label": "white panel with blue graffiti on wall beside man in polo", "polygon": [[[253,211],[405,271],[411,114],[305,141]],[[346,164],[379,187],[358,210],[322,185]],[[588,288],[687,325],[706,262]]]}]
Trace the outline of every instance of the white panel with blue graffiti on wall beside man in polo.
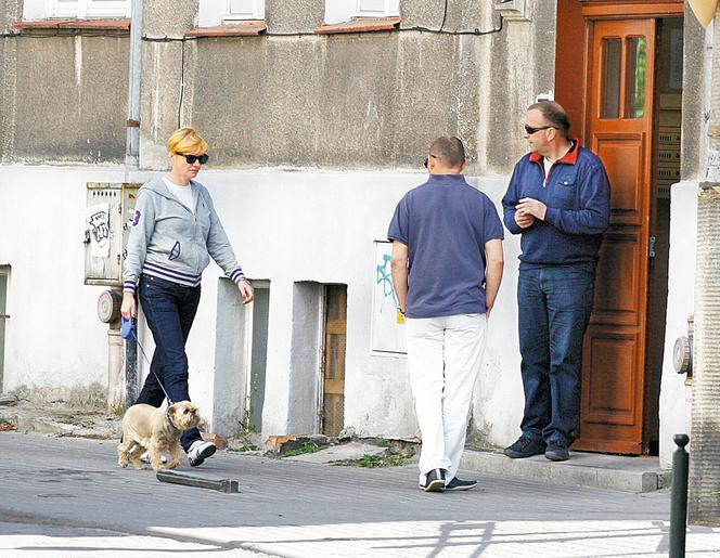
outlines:
[{"label": "white panel with blue graffiti on wall beside man in polo", "polygon": [[404,317],[398,312],[398,299],[390,275],[393,243],[375,241],[372,350],[407,353]]}]

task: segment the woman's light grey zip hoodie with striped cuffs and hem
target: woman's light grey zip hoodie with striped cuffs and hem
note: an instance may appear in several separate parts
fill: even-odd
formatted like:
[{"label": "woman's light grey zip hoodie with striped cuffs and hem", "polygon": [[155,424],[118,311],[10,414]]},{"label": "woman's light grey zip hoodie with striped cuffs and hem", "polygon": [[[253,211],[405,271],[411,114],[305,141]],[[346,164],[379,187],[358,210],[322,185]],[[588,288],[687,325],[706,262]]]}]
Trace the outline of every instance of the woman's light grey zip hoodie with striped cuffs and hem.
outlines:
[{"label": "woman's light grey zip hoodie with striped cuffs and hem", "polygon": [[233,282],[244,278],[209,192],[194,180],[190,187],[194,213],[163,179],[151,180],[138,191],[123,290],[134,291],[141,273],[195,287],[210,256]]}]

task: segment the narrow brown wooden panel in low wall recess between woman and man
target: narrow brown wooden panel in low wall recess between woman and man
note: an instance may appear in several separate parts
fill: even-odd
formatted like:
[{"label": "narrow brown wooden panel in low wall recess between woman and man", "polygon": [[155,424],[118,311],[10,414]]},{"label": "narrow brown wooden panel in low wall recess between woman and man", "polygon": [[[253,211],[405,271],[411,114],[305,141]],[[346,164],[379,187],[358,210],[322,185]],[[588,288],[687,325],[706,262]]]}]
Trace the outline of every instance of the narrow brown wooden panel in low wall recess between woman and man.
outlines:
[{"label": "narrow brown wooden panel in low wall recess between woman and man", "polygon": [[345,338],[347,286],[325,287],[325,345],[322,378],[322,433],[337,436],[345,424]]}]

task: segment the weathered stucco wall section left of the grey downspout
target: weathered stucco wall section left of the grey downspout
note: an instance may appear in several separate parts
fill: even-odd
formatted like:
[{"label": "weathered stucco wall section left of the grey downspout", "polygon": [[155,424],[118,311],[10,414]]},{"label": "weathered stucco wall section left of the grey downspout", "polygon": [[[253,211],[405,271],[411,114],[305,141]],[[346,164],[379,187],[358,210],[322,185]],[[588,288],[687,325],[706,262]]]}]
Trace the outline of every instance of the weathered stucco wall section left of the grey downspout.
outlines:
[{"label": "weathered stucco wall section left of the grey downspout", "polygon": [[[7,33],[22,18],[22,2],[0,4],[0,28]],[[119,163],[125,157],[127,35],[56,34],[33,31],[0,41],[0,158]]]}]

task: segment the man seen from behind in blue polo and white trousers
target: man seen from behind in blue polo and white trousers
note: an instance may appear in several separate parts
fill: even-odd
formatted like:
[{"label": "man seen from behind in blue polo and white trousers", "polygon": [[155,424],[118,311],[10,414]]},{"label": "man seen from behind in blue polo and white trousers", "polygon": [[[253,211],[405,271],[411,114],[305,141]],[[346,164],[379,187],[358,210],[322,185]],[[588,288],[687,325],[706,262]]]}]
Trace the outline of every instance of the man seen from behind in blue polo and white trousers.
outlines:
[{"label": "man seen from behind in blue polo and white trousers", "polygon": [[455,473],[502,280],[503,230],[492,202],[463,178],[458,138],[435,140],[426,166],[429,179],[400,200],[387,233],[423,442],[419,481],[426,492],[470,490],[477,483]]}]

